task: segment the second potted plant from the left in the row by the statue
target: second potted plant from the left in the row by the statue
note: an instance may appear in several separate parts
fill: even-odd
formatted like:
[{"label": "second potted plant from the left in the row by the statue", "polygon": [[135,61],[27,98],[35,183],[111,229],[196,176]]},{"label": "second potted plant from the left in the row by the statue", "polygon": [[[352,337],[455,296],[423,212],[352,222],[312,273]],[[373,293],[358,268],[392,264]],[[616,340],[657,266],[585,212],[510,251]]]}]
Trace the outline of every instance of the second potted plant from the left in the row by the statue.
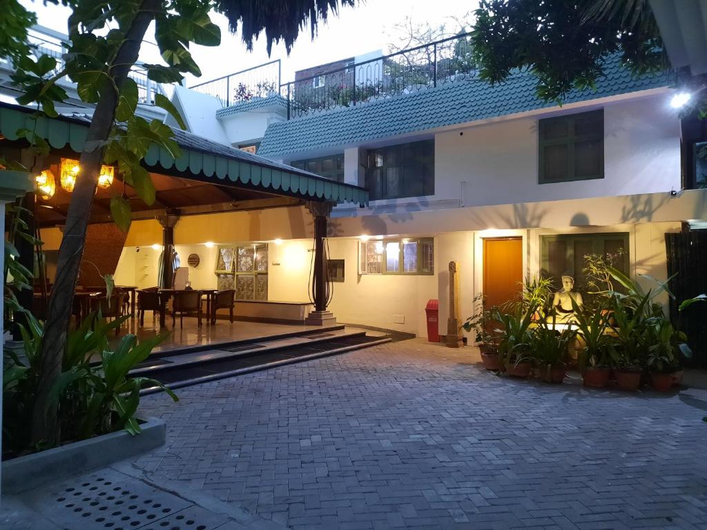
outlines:
[{"label": "second potted plant from the left in the row by the statue", "polygon": [[513,377],[528,377],[532,370],[530,323],[534,308],[525,314],[508,314],[500,310],[493,312],[494,319],[501,323],[498,332],[498,360],[501,370]]}]

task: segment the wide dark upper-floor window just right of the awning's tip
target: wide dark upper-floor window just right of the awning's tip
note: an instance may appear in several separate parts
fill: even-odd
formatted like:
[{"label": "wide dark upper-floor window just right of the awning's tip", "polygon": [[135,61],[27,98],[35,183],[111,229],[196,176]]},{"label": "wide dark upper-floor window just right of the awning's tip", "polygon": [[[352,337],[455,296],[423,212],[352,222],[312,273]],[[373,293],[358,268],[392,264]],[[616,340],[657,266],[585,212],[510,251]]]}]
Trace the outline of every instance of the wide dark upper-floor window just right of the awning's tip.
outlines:
[{"label": "wide dark upper-floor window just right of the awning's tip", "polygon": [[370,200],[435,193],[435,143],[426,140],[368,151],[366,187]]}]

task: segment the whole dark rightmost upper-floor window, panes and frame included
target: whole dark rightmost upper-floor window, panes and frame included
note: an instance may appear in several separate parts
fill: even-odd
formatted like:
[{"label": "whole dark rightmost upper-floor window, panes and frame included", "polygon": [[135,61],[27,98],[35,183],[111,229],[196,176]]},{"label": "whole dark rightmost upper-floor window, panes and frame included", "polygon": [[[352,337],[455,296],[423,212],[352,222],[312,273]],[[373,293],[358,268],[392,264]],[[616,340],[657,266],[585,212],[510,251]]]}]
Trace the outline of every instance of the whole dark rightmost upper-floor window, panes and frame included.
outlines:
[{"label": "whole dark rightmost upper-floor window, panes and frame included", "polygon": [[604,178],[604,111],[541,119],[539,182]]}]

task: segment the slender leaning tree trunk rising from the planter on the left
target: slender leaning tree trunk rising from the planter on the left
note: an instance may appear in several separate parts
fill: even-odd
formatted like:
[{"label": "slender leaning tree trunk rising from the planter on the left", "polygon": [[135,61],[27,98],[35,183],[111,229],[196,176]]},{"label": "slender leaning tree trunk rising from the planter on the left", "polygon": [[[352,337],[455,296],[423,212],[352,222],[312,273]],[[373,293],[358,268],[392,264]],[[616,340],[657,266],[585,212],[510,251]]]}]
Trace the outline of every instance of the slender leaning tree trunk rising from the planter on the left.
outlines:
[{"label": "slender leaning tree trunk rising from the planter on the left", "polygon": [[[110,73],[115,86],[122,88],[130,67],[138,58],[148,25],[154,18],[158,0],[144,0],[127,31],[126,39],[112,61]],[[32,417],[32,442],[53,445],[59,441],[57,403],[49,399],[49,391],[62,372],[66,336],[74,302],[74,290],[86,241],[88,218],[98,182],[98,172],[103,162],[104,143],[108,139],[115,119],[118,94],[108,90],[101,95],[93,112],[86,135],[86,146],[81,153],[81,172],[71,193],[71,203],[66,215],[62,245],[59,247],[57,278],[49,298],[45,334],[42,339],[41,371],[37,399]],[[95,147],[100,146],[100,147]]]}]

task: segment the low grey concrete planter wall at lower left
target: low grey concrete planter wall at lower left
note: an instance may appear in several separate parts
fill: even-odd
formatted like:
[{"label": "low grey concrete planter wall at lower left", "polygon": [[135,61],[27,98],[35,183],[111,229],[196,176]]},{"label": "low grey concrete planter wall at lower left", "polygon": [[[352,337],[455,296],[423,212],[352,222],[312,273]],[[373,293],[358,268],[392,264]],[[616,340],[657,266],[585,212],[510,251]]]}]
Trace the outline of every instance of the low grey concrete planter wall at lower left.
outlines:
[{"label": "low grey concrete planter wall at lower left", "polygon": [[38,485],[104,467],[119,460],[151,451],[165,443],[165,422],[157,418],[141,420],[142,432],[125,430],[54,447],[2,463],[2,492],[18,493]]}]

